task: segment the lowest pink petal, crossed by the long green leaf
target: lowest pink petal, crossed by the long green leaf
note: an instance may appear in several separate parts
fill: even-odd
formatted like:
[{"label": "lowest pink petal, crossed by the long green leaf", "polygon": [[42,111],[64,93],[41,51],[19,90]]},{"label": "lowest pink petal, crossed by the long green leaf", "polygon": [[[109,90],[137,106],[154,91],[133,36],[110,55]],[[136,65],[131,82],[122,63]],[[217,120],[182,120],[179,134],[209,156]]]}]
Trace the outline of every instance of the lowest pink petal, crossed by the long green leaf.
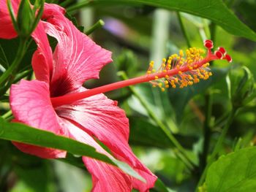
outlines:
[{"label": "lowest pink petal, crossed by the long green leaf", "polygon": [[[69,137],[94,147],[99,153],[108,154],[89,134],[78,128],[68,120],[62,119],[62,125],[69,130]],[[94,192],[130,192],[132,191],[132,178],[124,174],[116,166],[97,161],[93,158],[83,157],[86,168],[92,175]]]}]

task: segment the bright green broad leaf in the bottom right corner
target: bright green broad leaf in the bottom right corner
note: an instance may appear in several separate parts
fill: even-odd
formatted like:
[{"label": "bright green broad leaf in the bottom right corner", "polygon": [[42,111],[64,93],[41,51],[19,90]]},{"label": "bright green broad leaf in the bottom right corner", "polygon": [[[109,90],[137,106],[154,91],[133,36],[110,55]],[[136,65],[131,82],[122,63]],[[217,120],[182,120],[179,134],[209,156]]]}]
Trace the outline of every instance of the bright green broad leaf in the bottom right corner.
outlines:
[{"label": "bright green broad leaf in the bottom right corner", "polygon": [[208,192],[247,192],[256,189],[256,147],[222,156],[206,176]]}]

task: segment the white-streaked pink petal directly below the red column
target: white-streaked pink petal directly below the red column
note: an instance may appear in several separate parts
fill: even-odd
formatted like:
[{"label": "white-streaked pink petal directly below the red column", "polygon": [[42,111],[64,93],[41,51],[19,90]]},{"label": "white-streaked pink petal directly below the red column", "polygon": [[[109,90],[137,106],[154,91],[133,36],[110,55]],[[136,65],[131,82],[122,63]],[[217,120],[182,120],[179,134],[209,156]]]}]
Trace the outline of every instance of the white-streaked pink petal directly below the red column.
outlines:
[{"label": "white-streaked pink petal directly below the red column", "polygon": [[[80,88],[84,91],[84,88]],[[140,191],[154,187],[157,177],[140,163],[128,145],[129,123],[123,110],[116,102],[107,99],[103,94],[76,101],[70,105],[56,107],[60,117],[74,120],[83,126],[83,130],[109,147],[113,155],[127,162],[135,171],[144,177],[147,183],[133,180],[133,186]]]}]

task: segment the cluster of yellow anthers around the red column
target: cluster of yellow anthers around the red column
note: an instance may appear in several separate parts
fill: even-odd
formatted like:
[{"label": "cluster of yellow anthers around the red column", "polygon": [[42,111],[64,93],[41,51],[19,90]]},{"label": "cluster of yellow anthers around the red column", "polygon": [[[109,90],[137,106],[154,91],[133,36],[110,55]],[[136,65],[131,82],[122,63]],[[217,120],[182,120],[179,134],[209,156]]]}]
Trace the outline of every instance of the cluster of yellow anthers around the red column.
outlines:
[{"label": "cluster of yellow anthers around the red column", "polygon": [[[152,86],[159,87],[161,91],[165,91],[165,88],[186,88],[189,85],[200,82],[200,79],[207,80],[212,73],[207,70],[209,63],[203,64],[202,53],[204,53],[204,50],[195,47],[191,47],[186,51],[179,50],[179,54],[162,58],[162,64],[157,70],[154,69],[154,61],[151,61],[147,74],[157,71],[157,73],[165,75],[165,80],[159,80],[160,78],[156,75],[157,73],[152,74],[156,75],[154,76],[154,80],[151,81]],[[176,72],[176,75],[174,74],[174,77],[169,77],[167,73],[170,72],[170,74],[173,74],[172,68],[173,72]]]}]

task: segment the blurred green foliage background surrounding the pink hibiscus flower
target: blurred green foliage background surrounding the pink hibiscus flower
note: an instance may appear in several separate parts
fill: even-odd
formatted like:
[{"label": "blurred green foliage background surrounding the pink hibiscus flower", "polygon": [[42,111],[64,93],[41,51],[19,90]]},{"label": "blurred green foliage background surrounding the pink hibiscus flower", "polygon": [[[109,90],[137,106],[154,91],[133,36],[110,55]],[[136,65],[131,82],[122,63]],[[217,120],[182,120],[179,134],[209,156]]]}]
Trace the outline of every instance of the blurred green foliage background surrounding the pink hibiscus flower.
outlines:
[{"label": "blurred green foliage background surrounding the pink hibiscus flower", "polygon": [[[113,52],[113,64],[101,72],[99,80],[86,82],[88,88],[121,80],[116,74],[124,71],[128,77],[145,74],[148,63],[156,51],[155,40],[165,50],[164,57],[187,48],[187,40],[193,47],[203,47],[203,39],[214,39],[215,47],[222,46],[233,57],[233,63],[216,61],[211,64],[213,77],[197,85],[161,92],[150,84],[136,85],[135,90],[154,112],[148,110],[129,88],[106,93],[110,99],[127,112],[130,123],[129,143],[136,155],[149,167],[159,180],[151,191],[196,191],[209,156],[219,139],[222,128],[233,107],[239,108],[230,123],[230,130],[217,155],[221,156],[209,166],[206,183],[200,191],[253,191],[255,189],[255,75],[256,39],[255,7],[250,0],[195,1],[48,1],[63,4],[68,14],[78,20],[85,18],[81,12],[89,12],[89,20],[105,21],[105,26],[91,37]],[[78,9],[77,5],[83,5]],[[162,18],[156,12],[168,10],[170,21],[163,23],[167,31],[157,28]],[[166,11],[166,10],[165,10]],[[177,17],[181,12],[181,23]],[[186,12],[186,14],[184,13]],[[83,30],[83,28],[80,28]],[[84,31],[88,30],[85,28]],[[234,36],[236,35],[236,36]],[[54,48],[55,39],[50,39]],[[31,41],[21,62],[15,81],[33,78],[31,55],[36,45]],[[0,74],[8,69],[18,50],[18,39],[0,39]],[[153,58],[154,59],[154,58]],[[119,79],[118,79],[119,78]],[[0,88],[0,112],[6,120],[12,119],[8,111],[9,92]],[[207,99],[210,96],[210,99]],[[167,128],[184,147],[194,169],[189,170],[179,156],[173,142],[159,123]],[[0,130],[1,132],[1,130]],[[91,176],[81,164],[80,157],[69,153],[68,158],[58,161],[42,160],[21,153],[11,142],[0,140],[0,191],[90,191]],[[228,154],[228,155],[227,155]],[[64,161],[64,163],[62,162]],[[240,175],[240,176],[239,176]],[[239,177],[237,177],[239,176]],[[68,183],[68,185],[67,185]],[[238,186],[239,188],[234,188]]]}]

